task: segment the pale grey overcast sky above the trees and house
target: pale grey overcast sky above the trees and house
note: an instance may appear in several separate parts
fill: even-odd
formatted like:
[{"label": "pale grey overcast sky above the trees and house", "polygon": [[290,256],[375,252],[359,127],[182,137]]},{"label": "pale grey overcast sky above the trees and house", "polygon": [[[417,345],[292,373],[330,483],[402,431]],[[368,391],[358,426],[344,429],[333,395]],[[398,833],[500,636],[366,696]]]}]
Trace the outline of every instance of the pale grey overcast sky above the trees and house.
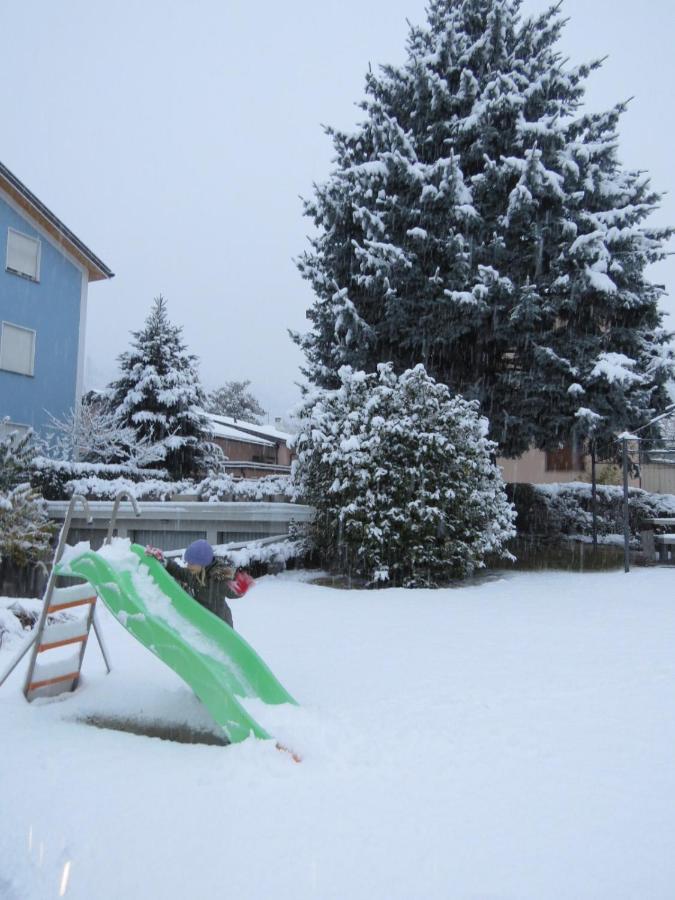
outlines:
[{"label": "pale grey overcast sky above the trees and house", "polygon": [[[541,0],[525,0],[527,12]],[[22,0],[0,5],[0,160],[116,273],[92,284],[88,386],[116,371],[160,292],[206,388],[249,378],[272,417],[297,399],[309,287],[299,195],[329,172],[321,123],[359,118],[368,63],[404,59],[423,0]],[[562,49],[608,55],[588,107],[633,96],[621,156],[670,191],[675,3],[565,0]],[[675,247],[671,248],[675,250]],[[653,273],[675,312],[675,259]],[[675,317],[668,323],[675,330]]]}]

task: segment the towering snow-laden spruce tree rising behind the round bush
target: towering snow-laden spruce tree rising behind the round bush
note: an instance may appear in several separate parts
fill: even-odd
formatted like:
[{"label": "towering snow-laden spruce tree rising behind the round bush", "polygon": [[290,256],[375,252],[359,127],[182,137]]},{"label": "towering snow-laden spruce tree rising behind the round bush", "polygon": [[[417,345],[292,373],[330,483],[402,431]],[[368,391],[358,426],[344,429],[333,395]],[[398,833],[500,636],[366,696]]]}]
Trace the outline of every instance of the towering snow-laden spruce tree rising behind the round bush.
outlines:
[{"label": "towering snow-laden spruce tree rising behind the round bush", "polygon": [[646,226],[660,195],[619,161],[625,104],[581,109],[599,63],[562,58],[559,6],[431,0],[405,64],[368,74],[362,124],[328,129],[305,209],[310,381],[421,362],[505,455],[644,424],[672,367],[645,274],[672,230]]}]

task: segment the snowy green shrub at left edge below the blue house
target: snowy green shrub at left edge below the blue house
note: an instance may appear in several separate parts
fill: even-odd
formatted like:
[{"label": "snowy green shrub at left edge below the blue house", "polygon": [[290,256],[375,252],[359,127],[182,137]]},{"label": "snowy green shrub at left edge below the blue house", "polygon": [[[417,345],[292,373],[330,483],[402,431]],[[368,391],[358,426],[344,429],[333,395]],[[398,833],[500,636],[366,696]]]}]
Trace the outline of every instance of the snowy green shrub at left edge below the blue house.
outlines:
[{"label": "snowy green shrub at left edge below the blue house", "polygon": [[33,453],[32,432],[0,440],[0,562],[18,567],[44,560],[54,533],[42,497],[27,483]]}]

